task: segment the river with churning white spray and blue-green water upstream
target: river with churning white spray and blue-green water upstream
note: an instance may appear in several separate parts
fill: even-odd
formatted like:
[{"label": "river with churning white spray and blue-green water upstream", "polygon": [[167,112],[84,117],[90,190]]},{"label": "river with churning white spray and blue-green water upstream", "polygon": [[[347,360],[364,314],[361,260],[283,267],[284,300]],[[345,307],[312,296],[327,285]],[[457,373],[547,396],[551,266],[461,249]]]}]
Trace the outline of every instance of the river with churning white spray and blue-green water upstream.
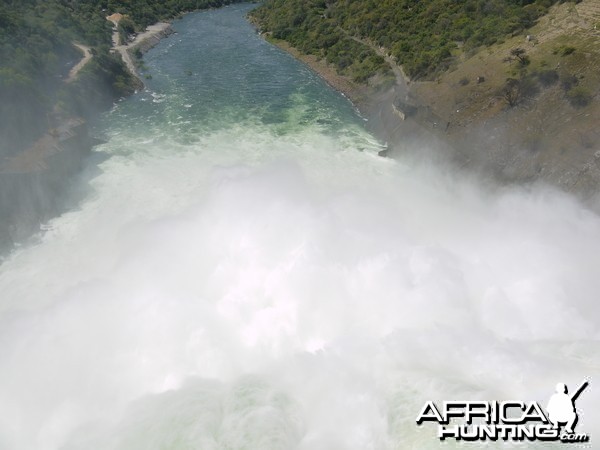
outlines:
[{"label": "river with churning white spray and blue-green water upstream", "polygon": [[0,265],[0,449],[433,448],[427,400],[584,378],[593,444],[598,216],[377,157],[250,8],[174,23],[80,208]]}]

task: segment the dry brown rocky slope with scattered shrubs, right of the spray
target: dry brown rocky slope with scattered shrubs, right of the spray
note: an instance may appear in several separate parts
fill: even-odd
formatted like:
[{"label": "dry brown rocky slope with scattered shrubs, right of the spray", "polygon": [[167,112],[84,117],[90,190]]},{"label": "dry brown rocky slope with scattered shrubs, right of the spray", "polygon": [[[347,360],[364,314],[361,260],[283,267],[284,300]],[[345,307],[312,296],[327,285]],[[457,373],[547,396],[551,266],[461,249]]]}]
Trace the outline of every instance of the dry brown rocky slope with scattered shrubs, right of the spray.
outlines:
[{"label": "dry brown rocky slope with scattered shrubs, right of the spray", "polygon": [[532,28],[464,52],[411,86],[465,162],[509,180],[600,188],[600,1],[555,5]]}]

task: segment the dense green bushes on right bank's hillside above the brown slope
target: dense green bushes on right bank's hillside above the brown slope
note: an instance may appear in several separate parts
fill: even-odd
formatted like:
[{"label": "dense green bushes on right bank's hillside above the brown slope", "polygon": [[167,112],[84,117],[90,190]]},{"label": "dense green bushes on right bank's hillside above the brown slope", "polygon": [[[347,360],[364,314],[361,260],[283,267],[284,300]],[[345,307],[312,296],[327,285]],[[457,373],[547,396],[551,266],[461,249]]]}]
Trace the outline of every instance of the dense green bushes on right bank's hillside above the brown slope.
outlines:
[{"label": "dense green bushes on right bank's hillside above the brown slope", "polygon": [[[361,81],[385,68],[383,47],[412,78],[447,69],[458,49],[492,45],[532,26],[552,0],[266,0],[251,15],[276,39]],[[366,62],[365,62],[366,61]]]}]

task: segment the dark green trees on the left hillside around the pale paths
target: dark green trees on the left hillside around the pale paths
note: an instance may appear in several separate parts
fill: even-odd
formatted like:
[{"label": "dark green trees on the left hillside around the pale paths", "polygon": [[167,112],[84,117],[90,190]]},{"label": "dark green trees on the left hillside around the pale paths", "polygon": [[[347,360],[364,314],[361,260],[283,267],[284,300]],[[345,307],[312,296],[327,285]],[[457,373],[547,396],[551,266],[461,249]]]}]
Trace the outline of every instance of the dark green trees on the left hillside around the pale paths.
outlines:
[{"label": "dark green trees on the left hillside around the pale paths", "polygon": [[[0,159],[33,142],[51,116],[86,114],[131,92],[137,83],[110,53],[112,24],[122,13],[139,31],[184,11],[235,0],[2,0],[0,1]],[[132,31],[129,29],[128,31]],[[64,80],[80,58],[94,57],[74,83]]]}]

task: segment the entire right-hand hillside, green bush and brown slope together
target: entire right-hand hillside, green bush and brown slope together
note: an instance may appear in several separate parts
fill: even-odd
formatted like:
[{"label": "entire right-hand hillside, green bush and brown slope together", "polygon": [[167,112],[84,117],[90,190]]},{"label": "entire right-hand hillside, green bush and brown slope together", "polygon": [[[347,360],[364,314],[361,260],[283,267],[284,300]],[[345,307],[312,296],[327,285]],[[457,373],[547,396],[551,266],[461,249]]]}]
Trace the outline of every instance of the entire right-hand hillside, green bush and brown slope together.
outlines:
[{"label": "entire right-hand hillside, green bush and brown slope together", "polygon": [[[300,57],[357,102],[391,154],[426,140],[503,182],[600,190],[600,1],[279,3],[253,15],[259,30],[308,54]],[[377,62],[369,76],[352,62],[354,44],[358,59]]]}]

